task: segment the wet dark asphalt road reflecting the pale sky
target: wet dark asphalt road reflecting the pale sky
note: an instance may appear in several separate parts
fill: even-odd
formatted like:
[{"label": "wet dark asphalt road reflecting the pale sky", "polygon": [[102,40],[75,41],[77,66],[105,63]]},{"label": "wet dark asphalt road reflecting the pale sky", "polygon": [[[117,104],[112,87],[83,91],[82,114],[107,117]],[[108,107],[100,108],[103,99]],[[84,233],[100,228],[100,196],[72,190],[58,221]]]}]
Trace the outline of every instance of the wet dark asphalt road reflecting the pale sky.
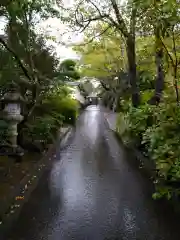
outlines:
[{"label": "wet dark asphalt road reflecting the pale sky", "polygon": [[7,239],[180,239],[180,218],[151,199],[149,181],[98,107],[87,108],[69,141],[57,149]]}]

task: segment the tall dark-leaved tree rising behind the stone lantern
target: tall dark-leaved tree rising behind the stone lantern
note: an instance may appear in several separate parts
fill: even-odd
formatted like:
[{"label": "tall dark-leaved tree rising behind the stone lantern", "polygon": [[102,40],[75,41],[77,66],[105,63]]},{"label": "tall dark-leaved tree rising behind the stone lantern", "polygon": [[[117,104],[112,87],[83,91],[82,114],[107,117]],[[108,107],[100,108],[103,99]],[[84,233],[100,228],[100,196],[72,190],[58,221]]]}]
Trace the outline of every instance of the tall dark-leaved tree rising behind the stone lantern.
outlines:
[{"label": "tall dark-leaved tree rising behind the stone lantern", "polygon": [[[4,83],[13,80],[19,86],[21,95],[26,99],[22,108],[24,120],[18,125],[20,145],[24,143],[25,133],[29,136],[28,131],[31,132],[31,125],[36,125],[36,119],[39,127],[43,124],[43,120],[45,121],[43,126],[47,127],[47,133],[49,132],[48,126],[52,126],[53,129],[57,125],[56,120],[62,120],[59,116],[60,112],[56,112],[55,115],[51,109],[47,112],[44,99],[50,93],[57,96],[58,92],[63,96],[63,91],[59,91],[59,88],[64,88],[65,77],[70,73],[61,70],[59,59],[53,54],[51,47],[46,46],[44,35],[37,34],[35,28],[40,20],[58,16],[54,3],[53,0],[39,2],[17,0],[1,6],[3,10],[1,14],[6,17],[8,23],[4,35],[0,36],[2,66],[0,90],[3,94],[8,90],[8,84],[5,87]],[[75,78],[74,71],[71,72],[71,77]],[[68,93],[65,92],[67,97]],[[40,135],[42,131],[41,128]]]}]

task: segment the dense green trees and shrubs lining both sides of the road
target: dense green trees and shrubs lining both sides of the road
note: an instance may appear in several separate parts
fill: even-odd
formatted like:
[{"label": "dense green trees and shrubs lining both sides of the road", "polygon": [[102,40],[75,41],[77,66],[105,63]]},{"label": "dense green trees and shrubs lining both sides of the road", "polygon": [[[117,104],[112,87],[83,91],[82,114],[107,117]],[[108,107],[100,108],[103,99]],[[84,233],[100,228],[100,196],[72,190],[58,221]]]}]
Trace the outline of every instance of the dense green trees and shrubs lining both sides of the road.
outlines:
[{"label": "dense green trees and shrubs lining both sides of the road", "polygon": [[[0,3],[1,17],[7,21],[0,36],[0,96],[13,80],[26,100],[19,144],[44,148],[59,126],[74,124],[77,103],[65,82],[86,77],[87,84],[79,85],[86,97],[96,78],[104,105],[119,112],[117,132],[123,141],[139,148],[156,166],[154,197],[178,195],[179,2],[76,0],[68,9],[62,2]],[[37,34],[36,24],[48,17],[84,32],[83,42],[74,46],[81,55],[78,63],[68,59],[60,64],[46,45],[47,36]],[[7,125],[1,121],[0,126],[4,144]]]}]

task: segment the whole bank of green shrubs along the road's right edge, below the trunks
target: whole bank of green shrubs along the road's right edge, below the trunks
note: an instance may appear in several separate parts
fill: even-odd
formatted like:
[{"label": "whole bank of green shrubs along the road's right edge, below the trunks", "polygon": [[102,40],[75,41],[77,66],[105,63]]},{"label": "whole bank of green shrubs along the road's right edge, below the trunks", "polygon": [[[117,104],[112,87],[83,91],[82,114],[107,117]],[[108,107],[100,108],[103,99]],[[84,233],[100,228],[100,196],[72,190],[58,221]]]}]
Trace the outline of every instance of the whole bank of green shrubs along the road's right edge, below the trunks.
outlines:
[{"label": "whole bank of green shrubs along the road's right edge, below the trunks", "polygon": [[122,140],[148,154],[157,170],[154,198],[180,194],[180,107],[164,97],[159,106],[129,107],[117,119]]}]

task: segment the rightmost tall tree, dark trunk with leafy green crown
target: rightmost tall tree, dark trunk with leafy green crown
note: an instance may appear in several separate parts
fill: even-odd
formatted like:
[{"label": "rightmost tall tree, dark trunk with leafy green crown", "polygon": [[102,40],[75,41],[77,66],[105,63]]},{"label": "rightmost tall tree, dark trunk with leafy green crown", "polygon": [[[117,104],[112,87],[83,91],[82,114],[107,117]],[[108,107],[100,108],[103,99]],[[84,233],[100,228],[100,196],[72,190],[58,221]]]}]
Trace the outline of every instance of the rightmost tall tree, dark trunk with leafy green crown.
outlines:
[{"label": "rightmost tall tree, dark trunk with leafy green crown", "polygon": [[[169,36],[173,36],[172,29],[177,28],[179,24],[178,9],[179,6],[176,0],[156,0],[148,2],[139,1],[139,30],[145,35],[147,34],[147,32],[149,32],[152,36],[154,35],[155,37],[154,47],[157,74],[154,96],[149,101],[151,104],[159,103],[162,98],[165,86],[165,58],[167,59],[167,49],[164,48],[164,41],[167,42],[167,38],[169,38]],[[173,46],[172,49],[174,49]],[[173,65],[173,68],[176,69],[175,66],[177,64],[175,64],[174,62]],[[177,81],[174,80],[174,82],[176,82],[177,85]],[[177,87],[175,87],[175,89],[177,94]]]}]

